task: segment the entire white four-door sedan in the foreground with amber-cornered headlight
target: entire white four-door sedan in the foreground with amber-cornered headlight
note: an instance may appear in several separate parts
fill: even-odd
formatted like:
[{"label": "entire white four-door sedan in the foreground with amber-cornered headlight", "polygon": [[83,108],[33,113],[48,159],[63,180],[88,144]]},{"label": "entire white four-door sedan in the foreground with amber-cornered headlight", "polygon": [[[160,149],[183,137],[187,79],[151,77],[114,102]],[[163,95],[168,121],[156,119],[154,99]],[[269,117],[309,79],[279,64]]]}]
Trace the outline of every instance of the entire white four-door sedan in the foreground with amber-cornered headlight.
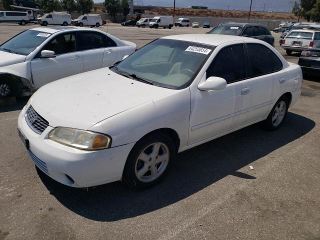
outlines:
[{"label": "entire white four-door sedan in the foreground with amber-cornered headlight", "polygon": [[280,127],[301,82],[300,67],[264,41],[167,36],[114,66],[44,85],[18,131],[35,165],[58,182],[144,188],[177,152],[255,122]]}]

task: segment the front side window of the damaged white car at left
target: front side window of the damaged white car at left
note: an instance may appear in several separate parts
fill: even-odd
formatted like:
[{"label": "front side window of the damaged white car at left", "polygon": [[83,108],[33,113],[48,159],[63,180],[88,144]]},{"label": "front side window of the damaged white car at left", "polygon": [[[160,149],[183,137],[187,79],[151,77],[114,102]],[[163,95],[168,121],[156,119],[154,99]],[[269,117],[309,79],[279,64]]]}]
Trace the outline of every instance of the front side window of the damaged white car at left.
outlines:
[{"label": "front side window of the damaged white car at left", "polygon": [[58,35],[42,50],[54,51],[56,55],[76,51],[75,33]]}]

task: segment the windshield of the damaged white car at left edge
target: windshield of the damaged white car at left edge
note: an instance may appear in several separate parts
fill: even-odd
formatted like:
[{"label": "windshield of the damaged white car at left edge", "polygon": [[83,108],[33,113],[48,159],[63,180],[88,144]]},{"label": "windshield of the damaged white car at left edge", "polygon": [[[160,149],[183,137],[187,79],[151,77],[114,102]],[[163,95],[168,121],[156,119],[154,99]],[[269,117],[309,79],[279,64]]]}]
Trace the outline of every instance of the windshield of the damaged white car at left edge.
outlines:
[{"label": "windshield of the damaged white car at left edge", "polygon": [[26,30],[4,42],[0,46],[0,50],[21,55],[28,55],[45,39],[47,39],[49,35],[50,33],[42,31]]}]

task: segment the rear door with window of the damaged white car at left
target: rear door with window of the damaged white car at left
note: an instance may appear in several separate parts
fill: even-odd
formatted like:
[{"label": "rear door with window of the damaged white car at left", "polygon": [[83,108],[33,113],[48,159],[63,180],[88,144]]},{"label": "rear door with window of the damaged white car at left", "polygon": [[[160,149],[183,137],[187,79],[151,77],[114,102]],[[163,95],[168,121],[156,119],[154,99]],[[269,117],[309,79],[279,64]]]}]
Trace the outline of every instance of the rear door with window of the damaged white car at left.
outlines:
[{"label": "rear door with window of the damaged white car at left", "polygon": [[83,71],[102,67],[105,35],[96,31],[78,32],[79,48],[83,56]]}]

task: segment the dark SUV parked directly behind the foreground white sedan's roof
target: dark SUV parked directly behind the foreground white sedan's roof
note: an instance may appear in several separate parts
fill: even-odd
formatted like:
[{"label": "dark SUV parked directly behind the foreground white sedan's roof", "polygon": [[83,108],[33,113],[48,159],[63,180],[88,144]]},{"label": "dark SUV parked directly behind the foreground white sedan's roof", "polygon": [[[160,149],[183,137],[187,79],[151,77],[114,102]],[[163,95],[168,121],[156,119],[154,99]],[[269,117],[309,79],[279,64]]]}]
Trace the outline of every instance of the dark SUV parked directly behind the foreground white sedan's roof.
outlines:
[{"label": "dark SUV parked directly behind the foreground white sedan's roof", "polygon": [[274,46],[274,37],[271,32],[265,25],[259,23],[221,23],[207,33],[246,36],[263,40]]}]

